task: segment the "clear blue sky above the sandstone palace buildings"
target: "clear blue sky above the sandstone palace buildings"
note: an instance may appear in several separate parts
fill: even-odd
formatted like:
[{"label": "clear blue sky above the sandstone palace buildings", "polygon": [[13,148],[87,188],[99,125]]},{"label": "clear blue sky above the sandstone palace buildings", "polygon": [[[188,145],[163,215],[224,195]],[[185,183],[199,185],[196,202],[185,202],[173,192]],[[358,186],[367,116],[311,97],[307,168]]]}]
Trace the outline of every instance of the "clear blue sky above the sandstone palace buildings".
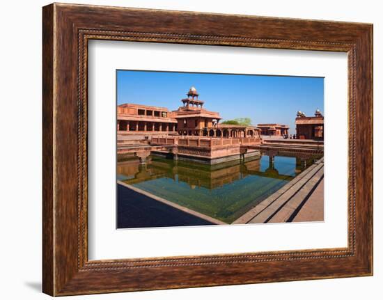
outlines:
[{"label": "clear blue sky above the sandstone palace buildings", "polygon": [[182,105],[191,86],[204,108],[221,118],[251,118],[252,124],[279,123],[295,133],[297,111],[313,116],[323,112],[322,77],[283,77],[153,71],[117,71],[117,103],[163,106],[173,111]]}]

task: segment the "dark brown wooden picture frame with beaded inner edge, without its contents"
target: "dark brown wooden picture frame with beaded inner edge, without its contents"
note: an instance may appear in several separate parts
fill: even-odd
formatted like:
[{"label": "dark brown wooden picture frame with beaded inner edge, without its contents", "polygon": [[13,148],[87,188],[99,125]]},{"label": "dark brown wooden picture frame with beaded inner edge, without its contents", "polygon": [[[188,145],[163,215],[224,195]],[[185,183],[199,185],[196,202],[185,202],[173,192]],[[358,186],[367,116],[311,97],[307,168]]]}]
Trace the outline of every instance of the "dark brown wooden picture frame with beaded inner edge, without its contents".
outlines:
[{"label": "dark brown wooden picture frame with beaded inner edge, without its contents", "polygon": [[[89,40],[346,52],[348,246],[88,260]],[[42,58],[42,290],[46,294],[373,275],[372,24],[53,3],[42,9]]]}]

